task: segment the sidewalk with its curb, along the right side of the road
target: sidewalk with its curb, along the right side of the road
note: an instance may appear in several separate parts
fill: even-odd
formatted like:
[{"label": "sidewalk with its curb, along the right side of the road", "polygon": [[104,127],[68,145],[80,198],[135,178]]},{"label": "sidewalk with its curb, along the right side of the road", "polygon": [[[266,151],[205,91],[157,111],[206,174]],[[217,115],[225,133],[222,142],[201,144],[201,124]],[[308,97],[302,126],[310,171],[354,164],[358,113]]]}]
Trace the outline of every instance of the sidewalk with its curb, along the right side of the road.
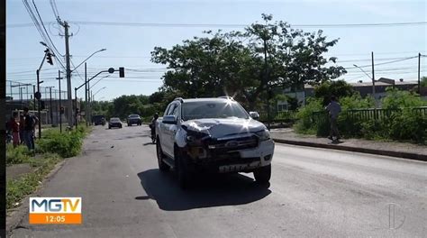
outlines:
[{"label": "sidewalk with its curb, along the right side of the road", "polygon": [[341,139],[339,143],[332,143],[327,138],[296,134],[291,128],[272,129],[270,134],[275,142],[427,161],[427,146],[412,143],[377,142],[363,139]]}]

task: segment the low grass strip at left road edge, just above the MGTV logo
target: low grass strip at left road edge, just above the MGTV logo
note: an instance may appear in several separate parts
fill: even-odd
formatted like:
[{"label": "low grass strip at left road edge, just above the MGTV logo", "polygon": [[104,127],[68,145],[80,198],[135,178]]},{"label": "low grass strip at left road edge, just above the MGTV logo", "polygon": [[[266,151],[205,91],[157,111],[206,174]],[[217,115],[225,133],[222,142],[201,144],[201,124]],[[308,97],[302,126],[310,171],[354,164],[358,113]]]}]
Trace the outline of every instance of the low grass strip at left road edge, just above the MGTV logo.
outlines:
[{"label": "low grass strip at left road edge, just above the MGTV logo", "polygon": [[39,159],[39,166],[34,172],[21,178],[8,179],[6,181],[6,208],[11,209],[20,206],[21,200],[36,190],[43,178],[60,160],[57,154],[44,154]]}]

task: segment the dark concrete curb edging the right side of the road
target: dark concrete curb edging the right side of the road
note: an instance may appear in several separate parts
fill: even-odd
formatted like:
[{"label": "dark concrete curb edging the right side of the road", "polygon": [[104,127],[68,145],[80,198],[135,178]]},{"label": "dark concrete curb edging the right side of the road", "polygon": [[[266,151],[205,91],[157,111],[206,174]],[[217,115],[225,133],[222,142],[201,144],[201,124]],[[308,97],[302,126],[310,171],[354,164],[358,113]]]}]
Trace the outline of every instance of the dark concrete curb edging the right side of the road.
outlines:
[{"label": "dark concrete curb edging the right side of the road", "polygon": [[386,151],[386,150],[378,150],[378,149],[352,147],[352,146],[339,145],[339,144],[326,144],[326,143],[317,143],[317,142],[301,142],[301,141],[292,141],[292,140],[275,139],[275,138],[273,138],[273,141],[279,142],[279,143],[309,146],[309,147],[317,147],[317,148],[324,148],[324,149],[332,149],[332,150],[338,150],[338,151],[353,151],[353,152],[360,152],[360,153],[386,155],[386,156],[404,158],[404,159],[409,159],[409,160],[427,161],[427,155],[418,154],[418,153],[410,153],[410,152],[402,152],[402,151]]}]

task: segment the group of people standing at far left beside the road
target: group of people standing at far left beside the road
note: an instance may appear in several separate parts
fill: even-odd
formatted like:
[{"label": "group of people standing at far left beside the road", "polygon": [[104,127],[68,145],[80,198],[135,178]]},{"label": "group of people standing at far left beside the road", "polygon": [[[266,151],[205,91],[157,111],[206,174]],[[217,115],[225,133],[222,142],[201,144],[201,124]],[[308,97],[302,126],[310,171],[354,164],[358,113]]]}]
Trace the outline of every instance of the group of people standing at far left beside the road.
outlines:
[{"label": "group of people standing at far left beside the road", "polygon": [[23,114],[14,112],[12,117],[6,124],[9,134],[12,135],[14,147],[25,144],[28,150],[34,150],[34,132],[39,118],[33,114],[29,114],[28,107],[23,108]]}]

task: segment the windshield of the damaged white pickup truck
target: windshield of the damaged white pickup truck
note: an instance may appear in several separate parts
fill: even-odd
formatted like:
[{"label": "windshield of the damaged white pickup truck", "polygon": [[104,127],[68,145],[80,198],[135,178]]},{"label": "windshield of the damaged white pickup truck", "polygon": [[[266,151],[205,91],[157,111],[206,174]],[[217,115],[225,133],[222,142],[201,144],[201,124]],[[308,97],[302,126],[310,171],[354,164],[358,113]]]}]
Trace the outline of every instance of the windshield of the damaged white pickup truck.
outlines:
[{"label": "windshield of the damaged white pickup truck", "polygon": [[201,118],[244,118],[249,115],[236,102],[189,102],[182,105],[184,121]]}]

